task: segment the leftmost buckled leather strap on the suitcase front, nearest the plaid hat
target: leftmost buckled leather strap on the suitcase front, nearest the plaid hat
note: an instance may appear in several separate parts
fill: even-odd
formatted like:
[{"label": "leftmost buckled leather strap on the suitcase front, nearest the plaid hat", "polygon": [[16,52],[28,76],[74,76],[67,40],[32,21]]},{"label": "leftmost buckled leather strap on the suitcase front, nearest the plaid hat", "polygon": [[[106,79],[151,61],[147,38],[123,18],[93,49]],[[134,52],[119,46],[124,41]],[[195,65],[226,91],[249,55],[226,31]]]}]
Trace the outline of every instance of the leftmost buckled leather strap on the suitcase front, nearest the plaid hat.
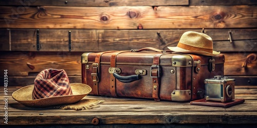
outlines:
[{"label": "leftmost buckled leather strap on the suitcase front, nearest the plaid hat", "polygon": [[94,86],[93,86],[93,94],[95,95],[99,95],[98,94],[98,82],[99,82],[99,73],[100,73],[100,60],[101,60],[101,56],[104,53],[110,53],[110,52],[116,52],[116,51],[106,51],[106,52],[99,52],[96,54],[95,57],[95,63],[92,63],[92,73],[91,73],[91,77],[92,80],[94,82]]}]

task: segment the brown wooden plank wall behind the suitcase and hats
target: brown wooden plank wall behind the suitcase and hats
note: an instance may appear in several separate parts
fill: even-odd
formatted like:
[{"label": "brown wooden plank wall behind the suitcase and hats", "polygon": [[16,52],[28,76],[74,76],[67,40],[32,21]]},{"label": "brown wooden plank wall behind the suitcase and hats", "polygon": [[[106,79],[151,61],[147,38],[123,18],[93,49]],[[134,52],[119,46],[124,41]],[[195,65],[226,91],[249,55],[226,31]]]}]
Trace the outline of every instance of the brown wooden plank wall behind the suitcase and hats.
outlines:
[{"label": "brown wooden plank wall behind the suitcase and hats", "polygon": [[[84,52],[168,50],[182,33],[197,31],[210,35],[214,50],[225,55],[226,76],[237,85],[257,85],[256,5],[250,0],[0,1],[0,71],[8,70],[9,86],[33,84],[47,68],[64,69],[71,82],[81,82]],[[3,75],[0,81],[4,84]]]}]

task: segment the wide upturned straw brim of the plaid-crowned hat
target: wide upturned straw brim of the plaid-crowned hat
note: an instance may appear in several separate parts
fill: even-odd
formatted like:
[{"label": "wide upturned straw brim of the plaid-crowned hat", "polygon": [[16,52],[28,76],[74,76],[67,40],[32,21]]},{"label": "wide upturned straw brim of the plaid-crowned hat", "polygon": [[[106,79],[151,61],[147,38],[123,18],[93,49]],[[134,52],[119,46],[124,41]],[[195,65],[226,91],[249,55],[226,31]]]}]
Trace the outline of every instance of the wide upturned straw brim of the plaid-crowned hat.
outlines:
[{"label": "wide upturned straw brim of the plaid-crowned hat", "polygon": [[71,104],[80,101],[91,92],[91,88],[82,83],[70,83],[73,95],[54,96],[42,99],[32,99],[34,85],[23,87],[12,93],[13,99],[25,106],[44,108],[46,106]]}]

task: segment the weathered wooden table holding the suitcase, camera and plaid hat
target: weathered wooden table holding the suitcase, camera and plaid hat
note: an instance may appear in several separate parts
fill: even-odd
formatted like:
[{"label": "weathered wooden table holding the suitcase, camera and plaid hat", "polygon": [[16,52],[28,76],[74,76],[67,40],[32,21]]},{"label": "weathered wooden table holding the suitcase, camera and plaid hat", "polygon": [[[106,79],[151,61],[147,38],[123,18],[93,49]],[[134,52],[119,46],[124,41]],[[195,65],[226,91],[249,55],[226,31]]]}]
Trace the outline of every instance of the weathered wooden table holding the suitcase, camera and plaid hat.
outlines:
[{"label": "weathered wooden table holding the suitcase, camera and plaid hat", "polygon": [[[236,86],[235,98],[243,98],[245,102],[230,108],[192,105],[190,102],[86,96],[85,98],[105,100],[105,102],[101,103],[99,108],[82,111],[29,108],[11,97],[11,94],[19,88],[21,87],[8,87],[8,95],[4,95],[3,87],[0,88],[2,90],[0,127],[257,126],[257,86]],[[6,98],[8,104],[4,101]],[[8,110],[5,105],[8,105]],[[8,111],[8,124],[5,124],[3,119],[5,111]],[[94,124],[97,123],[96,120],[99,120],[97,125]]]}]

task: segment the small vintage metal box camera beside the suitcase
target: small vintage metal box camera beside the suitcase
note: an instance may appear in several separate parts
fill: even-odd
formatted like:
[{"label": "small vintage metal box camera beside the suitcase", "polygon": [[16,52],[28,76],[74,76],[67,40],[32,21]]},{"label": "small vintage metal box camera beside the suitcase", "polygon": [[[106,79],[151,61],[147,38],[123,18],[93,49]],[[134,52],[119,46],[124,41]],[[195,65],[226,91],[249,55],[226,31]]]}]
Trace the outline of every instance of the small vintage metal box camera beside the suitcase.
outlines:
[{"label": "small vintage metal box camera beside the suitcase", "polygon": [[205,99],[228,102],[235,98],[235,79],[226,76],[214,76],[205,79]]}]

